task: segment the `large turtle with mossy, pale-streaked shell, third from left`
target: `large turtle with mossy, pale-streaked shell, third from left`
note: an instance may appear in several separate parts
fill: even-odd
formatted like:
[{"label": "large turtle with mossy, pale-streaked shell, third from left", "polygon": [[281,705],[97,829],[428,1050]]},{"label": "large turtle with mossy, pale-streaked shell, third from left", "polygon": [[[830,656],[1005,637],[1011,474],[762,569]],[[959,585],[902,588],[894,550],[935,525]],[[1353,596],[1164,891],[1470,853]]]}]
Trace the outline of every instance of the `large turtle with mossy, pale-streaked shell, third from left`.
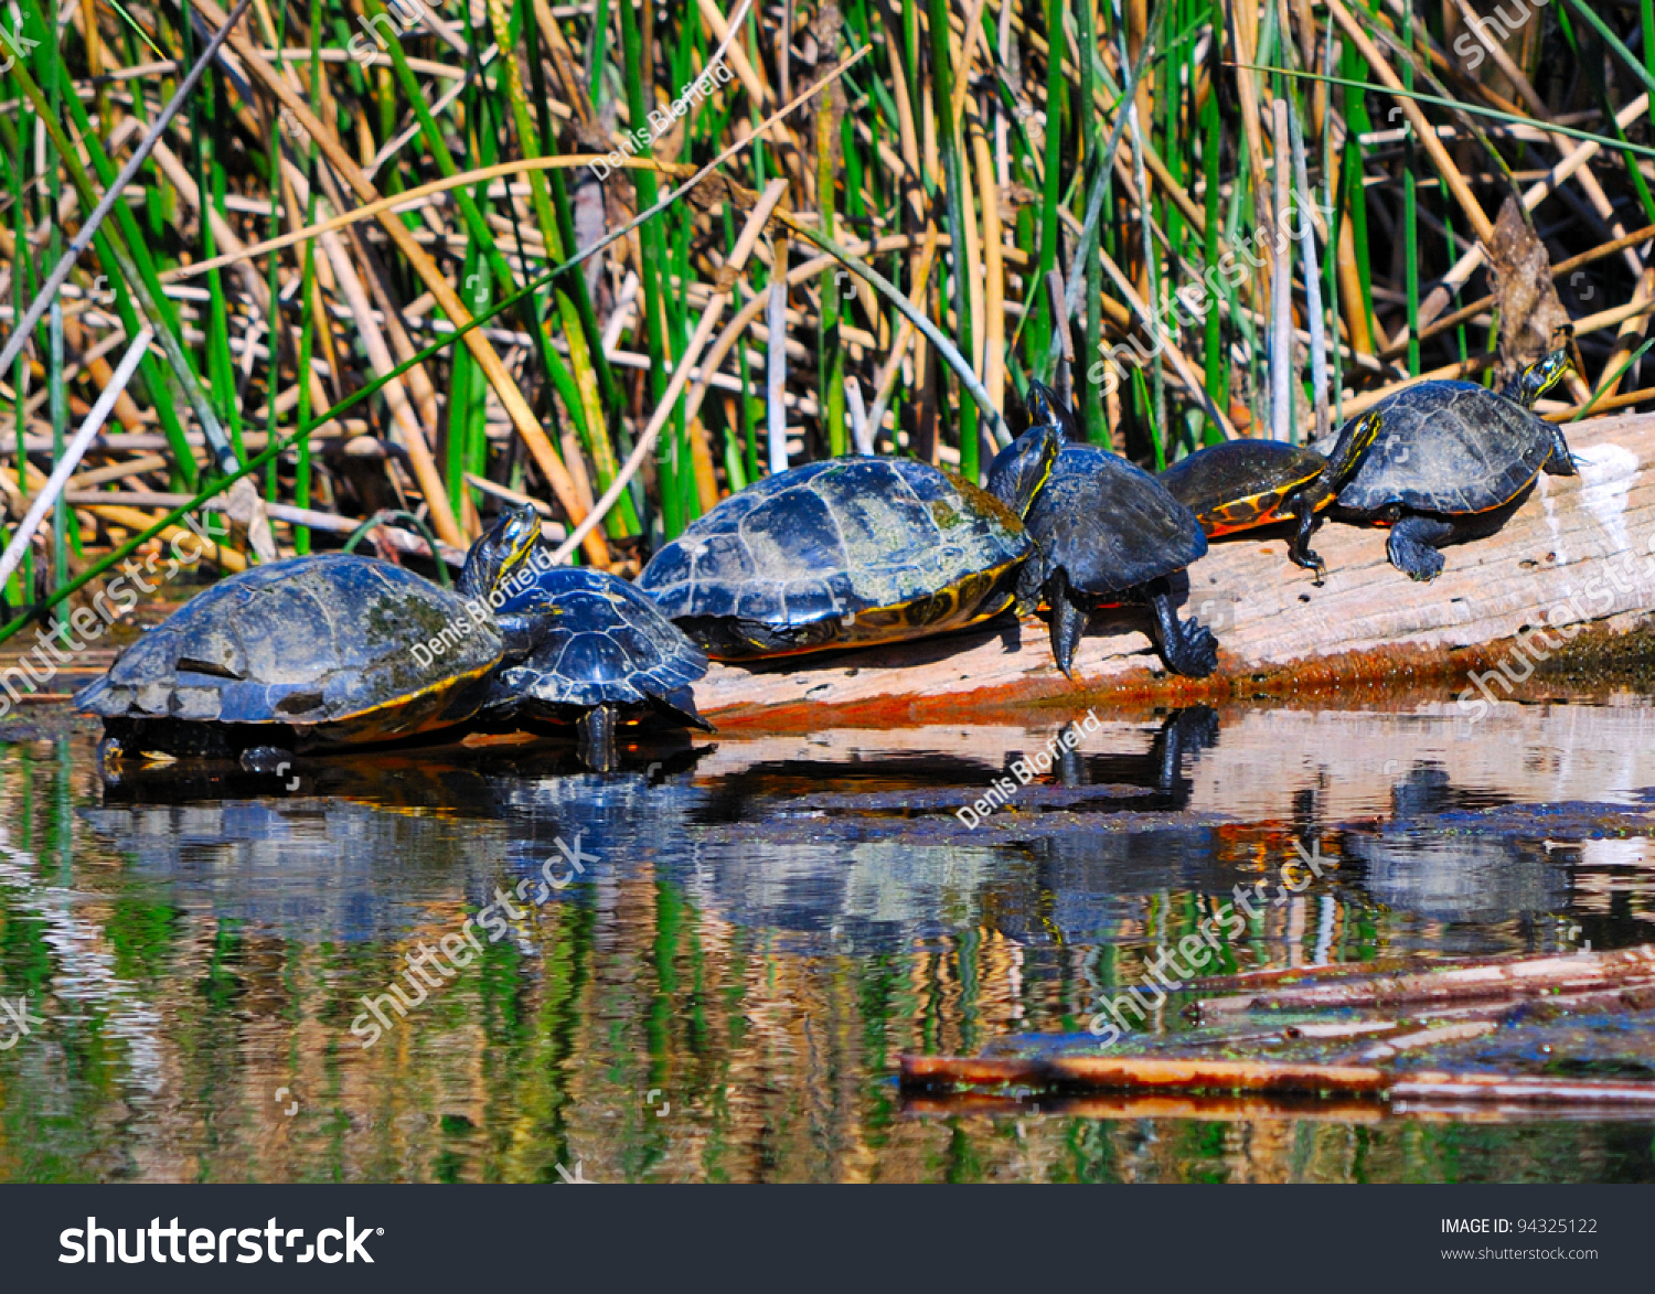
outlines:
[{"label": "large turtle with mossy, pale-streaked shell, third from left", "polygon": [[1011,606],[1033,553],[1023,515],[1056,434],[1001,453],[983,490],[914,458],[844,455],[730,495],[639,576],[720,660],[943,634]]}]

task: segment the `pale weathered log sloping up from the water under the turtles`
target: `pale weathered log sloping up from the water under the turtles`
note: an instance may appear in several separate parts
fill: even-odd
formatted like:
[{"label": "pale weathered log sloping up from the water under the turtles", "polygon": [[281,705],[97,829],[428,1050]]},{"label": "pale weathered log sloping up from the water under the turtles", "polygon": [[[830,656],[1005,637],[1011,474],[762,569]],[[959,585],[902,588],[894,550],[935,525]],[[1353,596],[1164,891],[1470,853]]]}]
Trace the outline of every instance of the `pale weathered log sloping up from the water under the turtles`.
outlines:
[{"label": "pale weathered log sloping up from the water under the turtles", "polygon": [[[1286,530],[1215,541],[1182,596],[1183,611],[1218,634],[1211,680],[1168,675],[1144,614],[1122,609],[1094,617],[1072,683],[1051,659],[1044,622],[1028,619],[751,669],[713,665],[697,700],[720,723],[816,726],[824,707],[844,720],[897,721],[1054,698],[1230,697],[1283,672],[1311,682],[1420,675],[1451,667],[1460,649],[1523,652],[1509,670],[1521,677],[1581,624],[1627,629],[1655,607],[1655,415],[1592,419],[1567,435],[1581,475],[1542,475],[1496,534],[1446,549],[1446,569],[1430,584],[1390,566],[1379,528],[1329,521],[1317,531],[1324,587],[1288,563]],[[1468,702],[1498,700],[1508,687],[1490,678]]]}]

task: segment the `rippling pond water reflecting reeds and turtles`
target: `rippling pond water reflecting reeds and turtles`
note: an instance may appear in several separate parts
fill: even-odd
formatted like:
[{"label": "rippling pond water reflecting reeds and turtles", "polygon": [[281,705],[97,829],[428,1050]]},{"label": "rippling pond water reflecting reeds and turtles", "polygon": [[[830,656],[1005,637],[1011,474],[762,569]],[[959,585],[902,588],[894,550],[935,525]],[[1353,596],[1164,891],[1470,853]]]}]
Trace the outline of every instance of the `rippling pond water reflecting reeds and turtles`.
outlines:
[{"label": "rippling pond water reflecting reeds and turtles", "polygon": [[900,1054],[1082,1029],[1298,847],[1322,875],[1221,970],[1655,940],[1647,698],[1099,712],[1011,776],[1079,718],[106,781],[36,707],[0,726],[0,1180],[1655,1180],[1647,1117],[907,1099]]}]

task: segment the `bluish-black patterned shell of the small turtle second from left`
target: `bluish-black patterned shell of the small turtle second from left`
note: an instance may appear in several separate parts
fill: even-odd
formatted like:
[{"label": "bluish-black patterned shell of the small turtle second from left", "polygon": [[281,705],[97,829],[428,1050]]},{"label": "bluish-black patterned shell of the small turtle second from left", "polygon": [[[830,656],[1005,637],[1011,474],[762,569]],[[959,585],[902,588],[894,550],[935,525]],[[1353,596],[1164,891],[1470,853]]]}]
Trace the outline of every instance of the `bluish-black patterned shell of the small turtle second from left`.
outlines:
[{"label": "bluish-black patterned shell of the small turtle second from left", "polygon": [[[707,657],[624,579],[554,566],[508,599],[501,616],[548,616],[549,629],[521,665],[500,672],[492,703],[526,698],[546,707],[682,710]],[[693,707],[690,708],[693,713]]]}]

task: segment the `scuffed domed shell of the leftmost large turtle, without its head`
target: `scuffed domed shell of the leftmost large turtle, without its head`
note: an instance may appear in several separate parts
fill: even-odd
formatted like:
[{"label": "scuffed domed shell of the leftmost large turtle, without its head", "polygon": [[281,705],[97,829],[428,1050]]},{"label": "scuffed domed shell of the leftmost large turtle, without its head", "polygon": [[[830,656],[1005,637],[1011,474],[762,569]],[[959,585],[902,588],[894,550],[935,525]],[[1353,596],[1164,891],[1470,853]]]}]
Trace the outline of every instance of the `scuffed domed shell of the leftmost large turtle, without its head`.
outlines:
[{"label": "scuffed domed shell of the leftmost large turtle, without its head", "polygon": [[[467,624],[422,665],[414,647]],[[467,604],[401,566],[339,554],[230,576],[149,630],[74,700],[104,718],[323,725],[381,740],[467,718],[450,693],[493,669],[503,640]],[[392,707],[362,721],[364,712]]]}]

